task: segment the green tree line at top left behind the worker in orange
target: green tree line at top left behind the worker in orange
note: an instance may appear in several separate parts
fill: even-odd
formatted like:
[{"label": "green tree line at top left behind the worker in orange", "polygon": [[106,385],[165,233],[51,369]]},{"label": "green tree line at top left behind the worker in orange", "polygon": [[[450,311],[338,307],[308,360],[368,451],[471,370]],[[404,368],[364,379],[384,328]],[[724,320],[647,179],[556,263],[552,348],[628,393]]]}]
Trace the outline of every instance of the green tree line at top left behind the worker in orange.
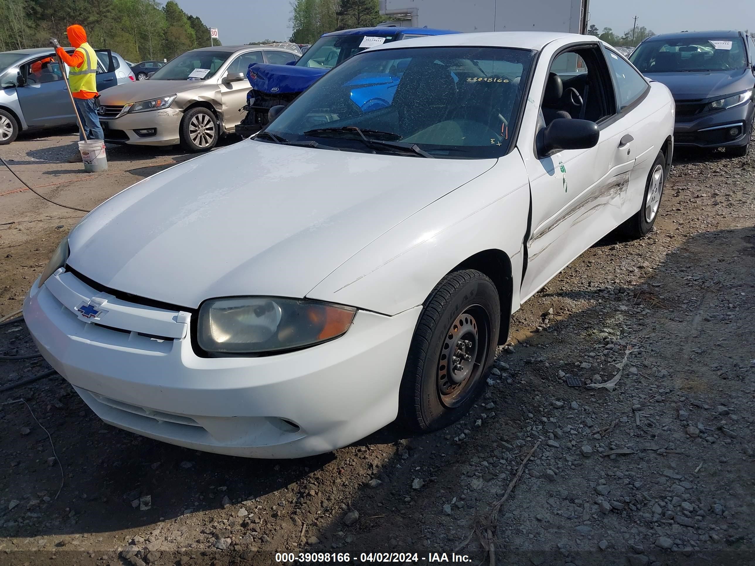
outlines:
[{"label": "green tree line at top left behind the worker in orange", "polygon": [[208,26],[174,0],[0,0],[0,51],[48,47],[51,37],[68,45],[66,28],[74,23],[92,47],[134,63],[210,45]]}]

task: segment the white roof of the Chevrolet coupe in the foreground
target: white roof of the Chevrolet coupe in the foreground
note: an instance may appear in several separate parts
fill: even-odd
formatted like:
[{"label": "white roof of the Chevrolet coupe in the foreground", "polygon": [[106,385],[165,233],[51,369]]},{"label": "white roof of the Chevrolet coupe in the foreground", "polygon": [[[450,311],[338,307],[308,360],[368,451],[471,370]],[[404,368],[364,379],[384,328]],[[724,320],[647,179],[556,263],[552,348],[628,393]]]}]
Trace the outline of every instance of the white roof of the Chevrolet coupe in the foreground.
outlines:
[{"label": "white roof of the Chevrolet coupe in the foreground", "polygon": [[575,41],[598,43],[599,39],[594,35],[578,35],[576,33],[559,32],[476,32],[454,33],[450,35],[435,35],[432,37],[418,37],[403,39],[400,42],[384,43],[372,48],[396,49],[408,47],[507,47],[516,49],[529,49],[540,51],[550,42],[559,39],[572,38]]}]

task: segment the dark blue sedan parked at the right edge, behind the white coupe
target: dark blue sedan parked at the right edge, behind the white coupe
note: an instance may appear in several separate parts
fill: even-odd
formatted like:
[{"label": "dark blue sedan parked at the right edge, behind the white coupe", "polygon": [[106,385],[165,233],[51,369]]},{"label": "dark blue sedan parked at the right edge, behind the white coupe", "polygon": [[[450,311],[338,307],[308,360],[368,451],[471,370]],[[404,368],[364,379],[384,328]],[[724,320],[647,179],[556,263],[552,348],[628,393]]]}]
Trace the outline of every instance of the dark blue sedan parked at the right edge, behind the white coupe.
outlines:
[{"label": "dark blue sedan parked at the right edge, behind the white coupe", "polygon": [[755,42],[745,32],[655,35],[633,51],[639,72],[676,102],[674,144],[747,155],[755,118]]}]

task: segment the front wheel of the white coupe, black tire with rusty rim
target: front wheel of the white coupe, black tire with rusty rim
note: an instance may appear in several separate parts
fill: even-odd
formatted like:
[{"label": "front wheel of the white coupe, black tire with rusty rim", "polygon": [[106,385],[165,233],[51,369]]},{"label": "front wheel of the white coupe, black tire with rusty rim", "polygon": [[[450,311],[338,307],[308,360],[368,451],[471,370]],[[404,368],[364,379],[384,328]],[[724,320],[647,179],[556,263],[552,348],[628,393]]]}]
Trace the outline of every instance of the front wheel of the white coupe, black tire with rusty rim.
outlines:
[{"label": "front wheel of the white coupe, black tire with rusty rim", "polygon": [[[481,272],[453,272],[436,285],[425,300],[402,377],[399,419],[406,428],[430,432],[467,414],[485,390],[500,323],[498,291]],[[451,352],[469,359],[457,365]],[[445,369],[444,361],[450,362]]]}]

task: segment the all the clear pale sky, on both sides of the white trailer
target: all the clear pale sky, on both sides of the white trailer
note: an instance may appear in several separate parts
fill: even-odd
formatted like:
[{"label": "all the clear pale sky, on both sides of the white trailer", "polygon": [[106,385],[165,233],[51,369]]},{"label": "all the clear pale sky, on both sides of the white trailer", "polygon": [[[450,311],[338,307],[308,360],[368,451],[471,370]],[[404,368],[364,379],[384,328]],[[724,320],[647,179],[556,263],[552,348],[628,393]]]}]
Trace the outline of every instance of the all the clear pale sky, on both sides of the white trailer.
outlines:
[{"label": "all the clear pale sky, on both sides of the white trailer", "polygon": [[[177,0],[183,11],[217,27],[225,45],[291,37],[289,0]],[[407,0],[411,3],[411,0]],[[535,0],[538,2],[538,0]],[[511,0],[512,5],[517,0]],[[621,35],[637,25],[656,33],[683,29],[755,29],[755,0],[590,0],[590,23]]]}]

